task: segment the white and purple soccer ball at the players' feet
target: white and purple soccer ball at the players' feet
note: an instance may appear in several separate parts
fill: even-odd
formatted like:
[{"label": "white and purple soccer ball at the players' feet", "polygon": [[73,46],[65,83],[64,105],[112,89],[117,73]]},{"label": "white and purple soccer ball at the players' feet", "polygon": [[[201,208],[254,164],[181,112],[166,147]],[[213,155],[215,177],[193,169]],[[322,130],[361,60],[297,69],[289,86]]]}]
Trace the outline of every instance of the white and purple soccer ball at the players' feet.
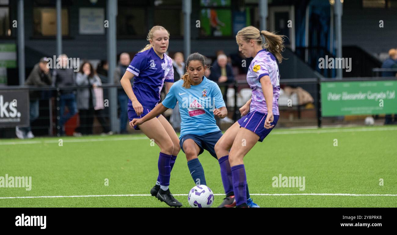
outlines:
[{"label": "white and purple soccer ball at the players' feet", "polygon": [[194,186],[187,196],[191,207],[211,207],[214,202],[214,193],[205,185]]}]

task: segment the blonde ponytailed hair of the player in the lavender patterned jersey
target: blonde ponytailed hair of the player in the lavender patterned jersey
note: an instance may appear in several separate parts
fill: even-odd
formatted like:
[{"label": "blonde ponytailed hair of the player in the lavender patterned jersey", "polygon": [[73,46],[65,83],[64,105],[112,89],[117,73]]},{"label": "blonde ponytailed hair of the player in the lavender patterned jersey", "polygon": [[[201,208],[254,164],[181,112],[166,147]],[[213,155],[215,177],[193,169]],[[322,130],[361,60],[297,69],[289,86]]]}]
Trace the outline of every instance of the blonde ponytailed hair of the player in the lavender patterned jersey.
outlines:
[{"label": "blonde ponytailed hair of the player in the lavender patterned jersey", "polygon": [[[265,38],[265,42],[262,43],[262,37]],[[278,35],[273,32],[269,32],[266,30],[259,31],[259,29],[253,27],[253,26],[248,26],[245,28],[242,28],[239,32],[236,34],[236,40],[242,40],[244,42],[248,42],[249,40],[254,40],[258,42],[258,44],[262,45],[262,48],[267,49],[270,51],[278,60],[279,63],[285,58],[281,55],[281,52],[284,51],[285,46],[284,46],[284,37],[285,35]]]}]

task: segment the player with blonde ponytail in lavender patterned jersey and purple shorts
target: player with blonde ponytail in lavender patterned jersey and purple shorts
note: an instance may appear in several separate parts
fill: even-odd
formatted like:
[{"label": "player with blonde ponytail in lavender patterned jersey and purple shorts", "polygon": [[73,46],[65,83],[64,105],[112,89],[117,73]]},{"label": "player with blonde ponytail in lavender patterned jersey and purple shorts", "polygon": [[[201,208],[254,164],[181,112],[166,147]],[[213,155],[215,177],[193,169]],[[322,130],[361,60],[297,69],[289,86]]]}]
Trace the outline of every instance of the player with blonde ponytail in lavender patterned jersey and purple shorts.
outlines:
[{"label": "player with blonde ponytail in lavender patterned jersey and purple shorts", "polygon": [[[266,40],[264,44],[261,34]],[[247,58],[254,57],[247,73],[252,98],[240,109],[243,117],[227,129],[216,143],[215,152],[220,162],[224,188],[233,188],[237,207],[247,207],[247,176],[243,158],[258,140],[263,141],[278,121],[280,76],[276,58],[281,63],[283,37],[252,26],[241,29],[236,35],[239,51]],[[230,176],[232,182],[224,180]]]}]

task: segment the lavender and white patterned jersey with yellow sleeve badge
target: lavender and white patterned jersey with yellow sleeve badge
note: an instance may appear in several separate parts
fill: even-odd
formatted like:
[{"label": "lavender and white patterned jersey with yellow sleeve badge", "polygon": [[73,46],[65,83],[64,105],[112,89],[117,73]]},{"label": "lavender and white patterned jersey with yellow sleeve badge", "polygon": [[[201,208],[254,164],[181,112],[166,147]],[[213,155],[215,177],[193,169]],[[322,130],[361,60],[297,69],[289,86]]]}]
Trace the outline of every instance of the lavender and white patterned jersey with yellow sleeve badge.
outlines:
[{"label": "lavender and white patterned jersey with yellow sleeve badge", "polygon": [[273,114],[279,115],[278,97],[280,95],[280,75],[276,58],[266,49],[258,51],[252,60],[247,73],[247,81],[252,89],[250,112],[268,113],[260,78],[268,75],[273,86]]}]

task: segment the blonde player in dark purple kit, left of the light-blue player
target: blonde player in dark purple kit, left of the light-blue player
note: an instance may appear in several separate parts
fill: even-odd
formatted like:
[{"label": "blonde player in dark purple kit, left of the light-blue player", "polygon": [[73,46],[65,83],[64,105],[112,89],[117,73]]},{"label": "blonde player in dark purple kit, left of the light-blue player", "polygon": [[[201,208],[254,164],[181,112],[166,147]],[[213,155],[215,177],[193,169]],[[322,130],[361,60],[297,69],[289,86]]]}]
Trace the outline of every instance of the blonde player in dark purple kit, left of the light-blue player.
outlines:
[{"label": "blonde player in dark purple kit, left of the light-blue player", "polygon": [[[160,101],[160,91],[166,84],[166,92],[173,84],[172,59],[165,54],[168,48],[170,33],[162,26],[150,29],[146,40],[150,44],[137,53],[127,71],[121,78],[121,85],[128,95],[128,117],[144,117]],[[133,87],[130,80],[135,76]],[[160,147],[158,158],[158,178],[150,194],[156,196],[171,207],[181,207],[182,204],[175,199],[168,186],[170,175],[179,153],[179,139],[172,126],[162,115],[135,127],[141,129],[149,139]],[[144,156],[142,156],[144,157]]]}]

